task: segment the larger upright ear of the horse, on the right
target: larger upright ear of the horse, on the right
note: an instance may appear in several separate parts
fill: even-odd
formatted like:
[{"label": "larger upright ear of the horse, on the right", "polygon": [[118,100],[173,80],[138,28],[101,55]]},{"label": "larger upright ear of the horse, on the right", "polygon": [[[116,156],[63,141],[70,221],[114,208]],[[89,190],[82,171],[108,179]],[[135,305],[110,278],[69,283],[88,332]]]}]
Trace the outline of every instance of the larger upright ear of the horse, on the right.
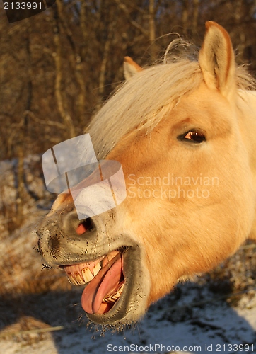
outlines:
[{"label": "larger upright ear of the horse, on the right", "polygon": [[199,65],[210,89],[230,96],[235,89],[235,55],[226,30],[213,21],[205,24],[204,43],[199,52]]}]

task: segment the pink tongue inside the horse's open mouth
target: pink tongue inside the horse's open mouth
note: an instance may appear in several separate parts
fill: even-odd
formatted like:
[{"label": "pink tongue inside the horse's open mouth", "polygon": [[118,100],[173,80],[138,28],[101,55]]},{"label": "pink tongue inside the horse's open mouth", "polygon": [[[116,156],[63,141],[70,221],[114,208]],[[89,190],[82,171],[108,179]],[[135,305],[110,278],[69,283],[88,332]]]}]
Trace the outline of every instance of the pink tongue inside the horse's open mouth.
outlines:
[{"label": "pink tongue inside the horse's open mouth", "polygon": [[95,314],[104,297],[117,286],[122,276],[122,258],[118,253],[83,290],[81,304],[85,312]]}]

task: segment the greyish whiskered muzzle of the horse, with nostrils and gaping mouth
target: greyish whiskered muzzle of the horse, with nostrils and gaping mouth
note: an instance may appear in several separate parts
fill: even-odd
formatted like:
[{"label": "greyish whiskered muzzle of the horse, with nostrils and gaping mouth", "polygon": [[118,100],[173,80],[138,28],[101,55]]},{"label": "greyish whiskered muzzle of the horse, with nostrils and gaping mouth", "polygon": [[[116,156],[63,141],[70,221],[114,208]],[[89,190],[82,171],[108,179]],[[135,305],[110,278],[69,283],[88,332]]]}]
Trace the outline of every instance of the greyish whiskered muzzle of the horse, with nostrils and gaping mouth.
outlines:
[{"label": "greyish whiskered muzzle of the horse, with nostrils and gaping mouth", "polygon": [[117,233],[114,220],[112,210],[79,220],[74,209],[50,213],[37,230],[45,263],[64,269],[71,284],[84,286],[81,305],[98,324],[137,321],[149,295],[141,247],[129,235]]}]

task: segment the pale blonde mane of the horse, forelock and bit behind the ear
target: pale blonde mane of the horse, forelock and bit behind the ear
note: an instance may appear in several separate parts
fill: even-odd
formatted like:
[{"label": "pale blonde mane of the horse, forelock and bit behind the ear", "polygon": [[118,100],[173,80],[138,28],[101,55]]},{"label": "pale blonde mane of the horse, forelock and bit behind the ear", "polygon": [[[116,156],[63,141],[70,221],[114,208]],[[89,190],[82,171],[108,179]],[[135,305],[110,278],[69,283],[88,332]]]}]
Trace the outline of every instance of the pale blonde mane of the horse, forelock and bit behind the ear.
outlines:
[{"label": "pale blonde mane of the horse, forelock and bit behind the ear", "polygon": [[[172,55],[177,40],[168,45],[163,63],[136,74],[103,105],[94,116],[90,133],[98,159],[104,159],[120,139],[136,128],[150,132],[170,113],[180,98],[192,93],[204,81],[199,62],[187,59],[187,42],[180,41],[183,55]],[[252,77],[244,67],[236,68],[237,88],[252,88]]]}]

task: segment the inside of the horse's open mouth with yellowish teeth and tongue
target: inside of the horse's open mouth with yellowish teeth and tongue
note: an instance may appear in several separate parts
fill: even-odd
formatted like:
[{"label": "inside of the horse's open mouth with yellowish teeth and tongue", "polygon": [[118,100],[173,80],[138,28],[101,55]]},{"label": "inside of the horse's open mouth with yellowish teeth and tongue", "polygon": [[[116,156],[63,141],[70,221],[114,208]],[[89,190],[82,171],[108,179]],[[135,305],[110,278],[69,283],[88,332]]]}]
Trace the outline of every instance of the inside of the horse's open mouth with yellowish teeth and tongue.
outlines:
[{"label": "inside of the horse's open mouth with yellowish teeth and tongue", "polygon": [[81,297],[88,314],[105,314],[116,304],[124,289],[123,253],[116,250],[95,261],[64,266],[74,285],[86,285]]}]

